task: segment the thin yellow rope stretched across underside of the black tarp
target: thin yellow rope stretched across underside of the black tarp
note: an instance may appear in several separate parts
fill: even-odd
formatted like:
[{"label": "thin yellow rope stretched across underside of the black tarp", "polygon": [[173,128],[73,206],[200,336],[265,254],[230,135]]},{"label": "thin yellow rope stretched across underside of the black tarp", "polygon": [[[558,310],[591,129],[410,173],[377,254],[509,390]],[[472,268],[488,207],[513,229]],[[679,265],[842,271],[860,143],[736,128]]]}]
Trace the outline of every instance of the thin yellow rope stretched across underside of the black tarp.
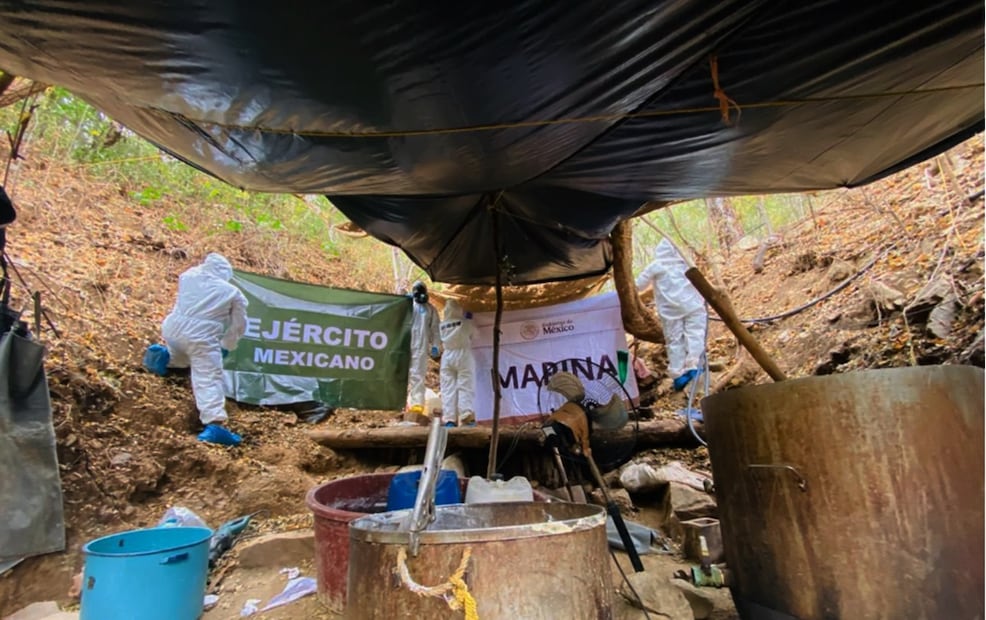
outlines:
[{"label": "thin yellow rope stretched across underside of the black tarp", "polygon": [[[830,96],[822,95],[818,97],[804,97],[801,99],[779,99],[775,101],[759,101],[753,103],[744,103],[743,109],[748,110],[751,108],[780,108],[780,107],[788,107],[788,106],[805,105],[811,103],[830,103],[833,101],[858,101],[865,99],[883,99],[883,98],[893,98],[893,97],[904,97],[908,95],[914,95],[914,96],[933,95],[937,93],[953,92],[957,90],[970,90],[973,88],[982,88],[983,86],[986,86],[986,82],[977,82],[975,84],[959,84],[955,86],[939,86],[937,88],[887,91],[883,93],[862,93],[859,95],[830,95]],[[728,101],[732,101],[732,100],[729,99]],[[739,107],[738,105],[736,105],[735,101],[733,101],[732,103],[735,107],[737,108]],[[614,121],[634,119],[634,118],[653,118],[659,116],[684,116],[687,114],[699,114],[704,112],[719,112],[720,114],[722,114],[722,100],[720,99],[719,105],[715,105],[715,106],[698,106],[693,108],[678,108],[675,110],[644,110],[642,112],[596,114],[591,116],[576,116],[569,118],[538,119],[531,121],[516,121],[510,123],[495,123],[491,125],[440,127],[437,129],[406,129],[406,130],[393,130],[393,131],[361,131],[361,132],[304,131],[304,130],[296,130],[290,128],[282,129],[282,128],[246,126],[246,125],[224,125],[222,123],[213,123],[203,120],[190,119],[188,117],[176,113],[172,113],[172,115],[177,118],[182,118],[188,123],[192,123],[199,126],[208,125],[213,127],[219,127],[220,129],[224,129],[227,131],[259,131],[261,133],[286,134],[286,135],[298,136],[302,138],[305,137],[308,138],[413,138],[417,136],[436,136],[436,135],[457,134],[457,133],[473,133],[479,131],[500,131],[504,129],[548,127],[551,125],[570,125],[574,123],[614,122]]]}]

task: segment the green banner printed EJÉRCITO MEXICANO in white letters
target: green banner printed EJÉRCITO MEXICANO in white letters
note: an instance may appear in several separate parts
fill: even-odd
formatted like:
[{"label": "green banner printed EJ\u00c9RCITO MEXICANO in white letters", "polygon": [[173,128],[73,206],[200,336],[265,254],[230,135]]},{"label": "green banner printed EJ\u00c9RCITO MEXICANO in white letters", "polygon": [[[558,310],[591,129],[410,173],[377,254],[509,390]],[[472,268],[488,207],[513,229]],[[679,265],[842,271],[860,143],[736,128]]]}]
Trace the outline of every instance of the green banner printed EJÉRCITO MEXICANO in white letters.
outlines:
[{"label": "green banner printed EJ\u00c9RCITO MEXICANO in white letters", "polygon": [[400,410],[407,397],[411,300],[235,271],[247,329],[225,359],[226,395],[254,405],[319,401]]}]

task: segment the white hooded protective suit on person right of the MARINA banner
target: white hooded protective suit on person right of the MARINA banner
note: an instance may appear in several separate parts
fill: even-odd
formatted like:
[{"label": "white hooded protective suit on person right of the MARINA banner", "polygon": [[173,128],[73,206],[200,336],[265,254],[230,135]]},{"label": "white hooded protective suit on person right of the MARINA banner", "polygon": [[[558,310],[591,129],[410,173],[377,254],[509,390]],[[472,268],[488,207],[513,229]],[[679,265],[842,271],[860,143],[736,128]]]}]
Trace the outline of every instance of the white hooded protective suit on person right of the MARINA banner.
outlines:
[{"label": "white hooded protective suit on person right of the MARINA banner", "polygon": [[637,276],[637,290],[654,287],[654,303],[664,328],[668,374],[677,379],[698,368],[705,350],[705,300],[685,277],[688,264],[667,239],[654,248],[654,261]]}]

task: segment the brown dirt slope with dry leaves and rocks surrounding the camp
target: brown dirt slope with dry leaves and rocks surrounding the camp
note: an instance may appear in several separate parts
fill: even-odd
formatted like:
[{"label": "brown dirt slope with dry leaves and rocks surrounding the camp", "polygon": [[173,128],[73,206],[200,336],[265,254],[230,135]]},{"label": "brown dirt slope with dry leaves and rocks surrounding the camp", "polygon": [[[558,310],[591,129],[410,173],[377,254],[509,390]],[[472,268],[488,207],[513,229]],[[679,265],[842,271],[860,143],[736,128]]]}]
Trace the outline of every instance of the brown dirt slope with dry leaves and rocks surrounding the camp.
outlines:
[{"label": "brown dirt slope with dry leaves and rocks surrounding the camp", "polygon": [[[812,217],[775,231],[762,268],[755,266],[763,247],[757,242],[700,263],[742,317],[786,315],[751,329],[789,376],[919,364],[982,366],[982,188],[983,142],[977,136],[946,159],[866,188],[816,195]],[[32,601],[71,605],[68,591],[82,564],[80,546],[153,525],[169,506],[187,506],[212,525],[259,511],[248,536],[305,529],[308,489],[405,464],[386,454],[324,448],[309,439],[310,425],[294,412],[232,403],[231,428],[244,444],[197,442],[184,423],[193,408],[187,377],[161,379],[140,367],[143,349],[158,339],[178,274],[196,257],[222,248],[248,270],[365,290],[380,285],[359,281],[345,257],[312,260],[290,238],[171,230],[161,224],[160,213],[141,207],[124,190],[43,161],[24,162],[18,172],[13,193],[20,218],[8,232],[7,252],[15,303],[29,307],[29,292],[41,291],[47,309],[40,339],[48,347],[68,548],[26,560],[0,577],[0,615]],[[661,379],[662,348],[643,343],[637,351],[655,373],[642,399],[647,415],[676,416],[685,397]],[[768,381],[720,323],[710,328],[709,351],[714,387]],[[399,412],[340,410],[321,424],[382,426],[400,419]],[[635,461],[709,469],[704,448],[647,450]],[[629,496],[628,518],[666,527],[663,497]],[[686,565],[680,557],[660,561]],[[230,591],[234,602],[207,618],[238,617],[236,597],[260,583],[266,589],[256,590],[255,598],[272,589],[273,576],[267,574],[237,576],[233,570],[228,579],[239,584]],[[716,600],[713,617],[732,617],[728,595]],[[319,617],[312,600],[299,605],[304,606],[293,613]]]}]

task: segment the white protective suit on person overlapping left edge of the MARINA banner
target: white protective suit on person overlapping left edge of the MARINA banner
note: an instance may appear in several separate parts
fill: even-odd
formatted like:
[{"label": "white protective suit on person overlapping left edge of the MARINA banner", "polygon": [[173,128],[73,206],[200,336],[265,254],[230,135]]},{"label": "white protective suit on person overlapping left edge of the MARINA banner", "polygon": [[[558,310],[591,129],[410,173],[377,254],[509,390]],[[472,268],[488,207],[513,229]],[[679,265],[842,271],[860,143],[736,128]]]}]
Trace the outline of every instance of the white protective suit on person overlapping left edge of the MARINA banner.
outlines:
[{"label": "white protective suit on person overlapping left edge of the MARINA banner", "polygon": [[453,299],[445,302],[445,315],[438,327],[442,335],[441,390],[442,421],[471,424],[476,421],[473,397],[476,390],[476,360],[472,355],[472,319]]}]

